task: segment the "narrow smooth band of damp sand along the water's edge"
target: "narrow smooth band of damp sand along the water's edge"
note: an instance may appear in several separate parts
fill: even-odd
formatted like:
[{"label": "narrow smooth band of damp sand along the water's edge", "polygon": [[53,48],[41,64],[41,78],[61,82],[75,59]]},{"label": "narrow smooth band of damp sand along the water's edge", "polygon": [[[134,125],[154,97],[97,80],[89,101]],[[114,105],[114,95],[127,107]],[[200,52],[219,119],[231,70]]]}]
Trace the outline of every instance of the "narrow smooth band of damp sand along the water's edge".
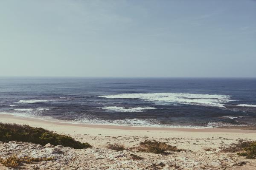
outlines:
[{"label": "narrow smooth band of damp sand along the water's edge", "polygon": [[[11,121],[12,120],[12,121]],[[230,127],[206,127],[206,128],[183,128],[183,127],[140,127],[140,126],[122,126],[122,125],[95,125],[95,124],[81,124],[81,123],[68,123],[68,122],[56,122],[51,120],[29,118],[24,116],[16,116],[12,114],[1,114],[0,122],[3,123],[18,123],[28,124],[31,122],[38,122],[39,124],[53,124],[63,125],[71,127],[87,127],[87,128],[99,128],[99,129],[116,129],[116,130],[164,130],[164,131],[183,131],[183,132],[229,132],[229,133],[256,133],[256,128],[247,129],[247,126],[230,126]]]}]

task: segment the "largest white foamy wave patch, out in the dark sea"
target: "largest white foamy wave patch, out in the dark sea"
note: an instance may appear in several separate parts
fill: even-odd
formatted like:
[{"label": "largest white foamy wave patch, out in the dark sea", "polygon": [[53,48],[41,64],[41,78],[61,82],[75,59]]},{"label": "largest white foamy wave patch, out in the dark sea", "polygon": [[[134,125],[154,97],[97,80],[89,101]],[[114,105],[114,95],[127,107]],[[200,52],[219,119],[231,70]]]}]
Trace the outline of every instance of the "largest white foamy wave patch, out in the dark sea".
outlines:
[{"label": "largest white foamy wave patch, out in the dark sea", "polygon": [[218,94],[189,94],[189,93],[147,93],[147,94],[115,94],[99,96],[104,98],[122,98],[122,99],[144,99],[148,102],[156,102],[160,105],[205,105],[223,107],[224,104],[234,101],[228,95]]}]

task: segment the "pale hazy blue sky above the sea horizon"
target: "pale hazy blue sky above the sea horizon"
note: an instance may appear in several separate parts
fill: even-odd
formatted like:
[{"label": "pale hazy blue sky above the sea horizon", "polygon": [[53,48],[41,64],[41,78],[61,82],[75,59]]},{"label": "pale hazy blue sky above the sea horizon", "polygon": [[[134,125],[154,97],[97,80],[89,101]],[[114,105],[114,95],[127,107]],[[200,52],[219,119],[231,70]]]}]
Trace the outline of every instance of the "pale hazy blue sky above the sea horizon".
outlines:
[{"label": "pale hazy blue sky above the sea horizon", "polygon": [[256,0],[1,0],[0,76],[256,77]]}]

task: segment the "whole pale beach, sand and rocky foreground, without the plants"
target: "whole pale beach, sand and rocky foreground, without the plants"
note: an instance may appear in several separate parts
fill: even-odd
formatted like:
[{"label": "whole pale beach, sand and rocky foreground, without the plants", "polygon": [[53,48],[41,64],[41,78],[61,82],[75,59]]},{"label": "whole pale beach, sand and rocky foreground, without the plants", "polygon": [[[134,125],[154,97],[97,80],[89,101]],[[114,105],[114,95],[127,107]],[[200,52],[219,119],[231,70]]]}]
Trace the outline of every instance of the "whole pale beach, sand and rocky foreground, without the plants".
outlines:
[{"label": "whole pale beach, sand and rocky foreground, without the plants", "polygon": [[[73,149],[62,145],[36,145],[26,142],[0,142],[0,156],[54,157],[53,161],[23,164],[20,168],[49,170],[254,170],[256,160],[246,159],[236,153],[222,153],[219,146],[238,139],[256,140],[255,130],[205,128],[157,128],[112,125],[84,125],[52,122],[8,114],[0,114],[0,122],[43,127],[55,133],[72,136],[93,147]],[[145,140],[165,142],[183,150],[167,155],[143,153],[135,150],[116,151],[107,149],[107,144],[121,143],[125,147],[138,147]],[[204,150],[211,148],[211,150]],[[141,159],[134,159],[133,156]],[[0,164],[0,170],[8,168]]]}]

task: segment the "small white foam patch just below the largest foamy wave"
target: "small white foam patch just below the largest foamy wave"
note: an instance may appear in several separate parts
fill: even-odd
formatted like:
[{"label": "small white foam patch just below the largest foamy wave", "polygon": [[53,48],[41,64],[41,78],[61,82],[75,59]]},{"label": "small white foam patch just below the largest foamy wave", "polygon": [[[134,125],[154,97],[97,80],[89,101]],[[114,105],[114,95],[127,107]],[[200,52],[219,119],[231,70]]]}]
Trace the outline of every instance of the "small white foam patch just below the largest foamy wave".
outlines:
[{"label": "small white foam patch just below the largest foamy wave", "polygon": [[145,110],[151,110],[156,108],[154,107],[128,108],[128,107],[117,107],[117,106],[105,106],[103,109],[106,111],[114,111],[114,112],[143,112]]}]

